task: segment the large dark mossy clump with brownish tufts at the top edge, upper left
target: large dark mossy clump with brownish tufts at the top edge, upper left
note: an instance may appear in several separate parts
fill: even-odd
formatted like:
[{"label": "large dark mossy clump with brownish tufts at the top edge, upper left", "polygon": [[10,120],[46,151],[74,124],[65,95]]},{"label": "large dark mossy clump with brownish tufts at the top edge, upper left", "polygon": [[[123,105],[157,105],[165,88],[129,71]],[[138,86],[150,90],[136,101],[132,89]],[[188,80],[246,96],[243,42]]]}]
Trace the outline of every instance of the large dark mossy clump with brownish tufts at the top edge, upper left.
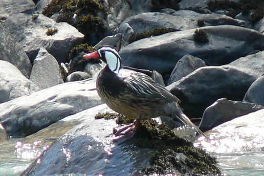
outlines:
[{"label": "large dark mossy clump with brownish tufts at the top edge, upper left", "polygon": [[47,17],[59,13],[57,22],[76,27],[85,35],[84,42],[96,44],[105,37],[105,24],[97,15],[106,15],[107,9],[99,0],[52,0],[42,13]]}]

